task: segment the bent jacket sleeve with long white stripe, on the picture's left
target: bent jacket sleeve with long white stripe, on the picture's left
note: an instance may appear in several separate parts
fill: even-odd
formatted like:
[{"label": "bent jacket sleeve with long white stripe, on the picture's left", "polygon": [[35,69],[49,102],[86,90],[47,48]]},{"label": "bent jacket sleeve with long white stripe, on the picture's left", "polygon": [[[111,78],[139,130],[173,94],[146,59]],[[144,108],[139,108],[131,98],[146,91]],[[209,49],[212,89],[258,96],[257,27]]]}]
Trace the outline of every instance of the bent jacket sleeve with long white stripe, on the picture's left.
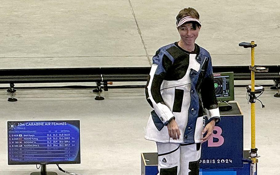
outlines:
[{"label": "bent jacket sleeve with long white stripe, on the picture's left", "polygon": [[145,88],[148,103],[154,108],[154,111],[164,124],[168,124],[174,118],[172,111],[165,104],[160,92],[162,81],[171,65],[171,59],[162,51],[157,51],[153,57],[153,64]]}]

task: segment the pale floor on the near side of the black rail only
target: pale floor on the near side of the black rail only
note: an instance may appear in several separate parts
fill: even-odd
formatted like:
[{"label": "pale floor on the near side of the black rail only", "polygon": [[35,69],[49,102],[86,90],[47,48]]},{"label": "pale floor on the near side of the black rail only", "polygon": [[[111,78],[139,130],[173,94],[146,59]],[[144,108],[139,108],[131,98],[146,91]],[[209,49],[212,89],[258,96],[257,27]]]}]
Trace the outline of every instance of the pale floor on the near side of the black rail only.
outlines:
[{"label": "pale floor on the near side of the black rail only", "polygon": [[[1,131],[8,120],[81,120],[81,164],[62,165],[80,174],[140,174],[140,153],[156,152],[156,145],[144,139],[150,107],[143,88],[110,89],[104,101],[94,100],[92,89],[19,89],[18,101],[7,102],[9,94],[0,92]],[[261,155],[258,174],[278,174],[280,149],[278,130],[280,101],[266,88],[256,103],[256,147]],[[244,150],[250,149],[250,104],[245,88],[235,88],[235,100],[244,114]],[[5,132],[4,132],[5,133]],[[233,133],[234,134],[234,133]],[[5,134],[6,135],[6,134]],[[0,174],[24,175],[35,165],[7,165],[6,136],[0,138]],[[238,140],[236,140],[238,141]],[[57,171],[55,165],[47,168]],[[15,172],[14,172],[15,171]],[[63,174],[62,172],[59,174]]]}]

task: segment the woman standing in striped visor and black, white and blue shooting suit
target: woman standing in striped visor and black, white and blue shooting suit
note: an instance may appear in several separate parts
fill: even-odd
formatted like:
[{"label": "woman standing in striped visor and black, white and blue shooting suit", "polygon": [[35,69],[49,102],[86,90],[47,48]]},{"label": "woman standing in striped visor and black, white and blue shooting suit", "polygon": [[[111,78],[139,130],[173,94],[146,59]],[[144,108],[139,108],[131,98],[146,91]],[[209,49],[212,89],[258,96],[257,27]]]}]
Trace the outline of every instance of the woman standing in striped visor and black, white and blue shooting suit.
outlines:
[{"label": "woman standing in striped visor and black, white and blue shooting suit", "polygon": [[181,39],[159,48],[153,57],[146,98],[154,110],[145,138],[157,143],[158,175],[198,175],[201,142],[209,139],[220,114],[210,54],[195,43],[199,14],[185,8],[176,20]]}]

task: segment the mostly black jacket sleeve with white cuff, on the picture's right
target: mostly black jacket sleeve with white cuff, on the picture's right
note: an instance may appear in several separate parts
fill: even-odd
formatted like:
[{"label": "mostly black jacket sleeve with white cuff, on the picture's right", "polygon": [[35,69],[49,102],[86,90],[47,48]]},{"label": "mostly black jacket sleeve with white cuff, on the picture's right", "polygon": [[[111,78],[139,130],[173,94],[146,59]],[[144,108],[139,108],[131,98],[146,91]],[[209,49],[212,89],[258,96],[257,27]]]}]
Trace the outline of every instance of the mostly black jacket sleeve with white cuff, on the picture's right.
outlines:
[{"label": "mostly black jacket sleeve with white cuff, on the picture's right", "polygon": [[208,121],[215,119],[216,123],[220,121],[220,112],[214,88],[214,78],[211,56],[206,61],[205,76],[201,86],[201,98],[203,107],[206,110]]}]

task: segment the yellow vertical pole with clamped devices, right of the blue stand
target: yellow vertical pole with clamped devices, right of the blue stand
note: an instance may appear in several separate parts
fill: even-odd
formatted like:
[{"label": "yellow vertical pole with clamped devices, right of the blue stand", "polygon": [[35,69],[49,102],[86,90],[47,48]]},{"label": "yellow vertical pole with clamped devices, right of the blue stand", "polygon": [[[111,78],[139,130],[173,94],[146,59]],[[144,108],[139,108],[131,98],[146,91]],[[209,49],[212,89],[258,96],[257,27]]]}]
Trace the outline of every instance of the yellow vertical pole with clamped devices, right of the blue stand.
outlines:
[{"label": "yellow vertical pole with clamped devices, right of the blue stand", "polygon": [[[255,42],[251,41],[251,45]],[[255,48],[251,47],[251,66],[255,66]],[[255,72],[251,71],[251,91],[255,92]],[[256,148],[256,123],[255,123],[255,103],[251,103],[251,149]],[[251,160],[256,163],[256,158],[251,158]]]}]

